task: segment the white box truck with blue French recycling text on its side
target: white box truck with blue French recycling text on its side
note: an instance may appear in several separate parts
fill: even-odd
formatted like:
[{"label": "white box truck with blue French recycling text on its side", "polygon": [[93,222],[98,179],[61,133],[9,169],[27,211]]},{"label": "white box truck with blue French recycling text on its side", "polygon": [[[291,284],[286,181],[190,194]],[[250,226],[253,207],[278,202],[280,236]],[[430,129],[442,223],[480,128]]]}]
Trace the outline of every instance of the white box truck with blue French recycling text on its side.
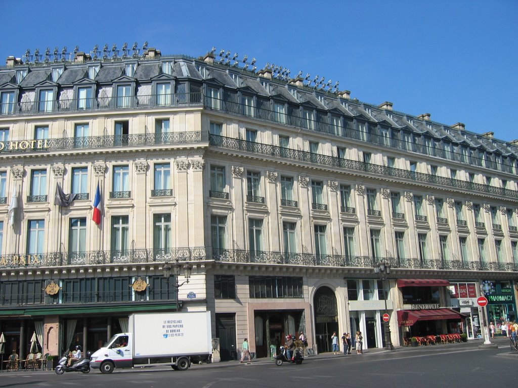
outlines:
[{"label": "white box truck with blue French recycling text on its side", "polygon": [[128,333],[116,334],[92,354],[90,367],[111,373],[114,368],[191,366],[191,357],[210,360],[210,311],[132,314]]}]

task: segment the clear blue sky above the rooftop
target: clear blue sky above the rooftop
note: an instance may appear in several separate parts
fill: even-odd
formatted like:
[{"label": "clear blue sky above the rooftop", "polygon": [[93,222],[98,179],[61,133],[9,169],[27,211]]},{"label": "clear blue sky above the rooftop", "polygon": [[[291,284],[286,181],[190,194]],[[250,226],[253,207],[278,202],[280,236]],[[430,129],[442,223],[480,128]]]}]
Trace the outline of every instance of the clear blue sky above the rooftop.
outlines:
[{"label": "clear blue sky above the rooftop", "polygon": [[340,82],[352,98],[518,138],[517,0],[0,0],[0,61],[144,41],[162,54],[214,46]]}]

